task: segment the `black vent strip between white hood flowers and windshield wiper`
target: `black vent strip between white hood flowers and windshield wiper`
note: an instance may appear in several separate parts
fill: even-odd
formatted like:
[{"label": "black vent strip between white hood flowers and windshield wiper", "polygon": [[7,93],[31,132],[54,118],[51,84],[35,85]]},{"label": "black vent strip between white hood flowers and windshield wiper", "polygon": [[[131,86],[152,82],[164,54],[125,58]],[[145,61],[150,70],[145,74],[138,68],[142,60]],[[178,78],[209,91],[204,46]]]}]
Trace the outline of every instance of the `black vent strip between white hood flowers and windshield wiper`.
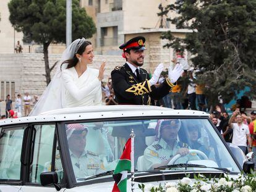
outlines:
[{"label": "black vent strip between white hood flowers and windshield wiper", "polygon": [[[194,178],[194,174],[198,175],[198,173],[163,173],[161,175],[145,175],[138,176],[134,178],[134,182],[138,183],[147,183],[147,182],[160,182],[166,180],[181,180],[183,177]],[[207,178],[220,178],[224,177],[223,173],[200,173],[200,175],[205,175]]]}]

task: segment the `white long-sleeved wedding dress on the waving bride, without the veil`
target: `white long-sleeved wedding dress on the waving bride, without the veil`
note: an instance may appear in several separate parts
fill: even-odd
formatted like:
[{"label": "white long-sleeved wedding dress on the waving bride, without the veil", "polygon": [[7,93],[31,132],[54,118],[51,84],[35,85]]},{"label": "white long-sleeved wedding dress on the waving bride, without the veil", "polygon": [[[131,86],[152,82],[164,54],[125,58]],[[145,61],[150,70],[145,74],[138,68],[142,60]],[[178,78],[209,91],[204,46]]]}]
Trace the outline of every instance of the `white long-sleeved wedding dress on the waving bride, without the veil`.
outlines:
[{"label": "white long-sleeved wedding dress on the waving bride, without the veil", "polygon": [[101,81],[99,70],[87,67],[80,77],[75,67],[62,71],[64,82],[63,107],[99,106],[102,104]]}]

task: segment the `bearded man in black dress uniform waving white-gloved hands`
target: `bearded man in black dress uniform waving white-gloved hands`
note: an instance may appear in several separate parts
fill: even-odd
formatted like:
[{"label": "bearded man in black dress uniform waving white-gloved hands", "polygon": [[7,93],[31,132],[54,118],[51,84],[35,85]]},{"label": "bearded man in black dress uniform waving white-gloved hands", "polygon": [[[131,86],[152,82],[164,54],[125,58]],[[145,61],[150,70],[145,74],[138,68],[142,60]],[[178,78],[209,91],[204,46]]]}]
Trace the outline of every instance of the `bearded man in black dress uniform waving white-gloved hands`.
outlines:
[{"label": "bearded man in black dress uniform waving white-gloved hands", "polygon": [[142,69],[145,53],[145,38],[137,36],[119,46],[126,58],[126,64],[115,67],[111,72],[113,89],[119,104],[148,105],[150,98],[159,100],[166,96],[175,86],[174,83],[182,74],[182,66],[177,64],[173,70],[168,70],[169,78],[156,87],[163,64],[156,67],[152,77],[147,70]]}]

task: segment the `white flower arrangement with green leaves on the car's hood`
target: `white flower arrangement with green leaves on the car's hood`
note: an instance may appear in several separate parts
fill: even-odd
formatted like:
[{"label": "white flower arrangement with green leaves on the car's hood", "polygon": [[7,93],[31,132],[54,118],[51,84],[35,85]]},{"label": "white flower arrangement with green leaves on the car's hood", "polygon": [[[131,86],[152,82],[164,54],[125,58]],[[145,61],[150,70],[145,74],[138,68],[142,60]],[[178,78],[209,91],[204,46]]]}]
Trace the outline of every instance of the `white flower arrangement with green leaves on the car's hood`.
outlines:
[{"label": "white flower arrangement with green leaves on the car's hood", "polygon": [[169,182],[164,186],[152,184],[139,184],[143,192],[252,192],[256,191],[256,173],[239,175],[238,178],[207,178],[204,175],[195,176],[195,182],[187,177],[179,182]]}]

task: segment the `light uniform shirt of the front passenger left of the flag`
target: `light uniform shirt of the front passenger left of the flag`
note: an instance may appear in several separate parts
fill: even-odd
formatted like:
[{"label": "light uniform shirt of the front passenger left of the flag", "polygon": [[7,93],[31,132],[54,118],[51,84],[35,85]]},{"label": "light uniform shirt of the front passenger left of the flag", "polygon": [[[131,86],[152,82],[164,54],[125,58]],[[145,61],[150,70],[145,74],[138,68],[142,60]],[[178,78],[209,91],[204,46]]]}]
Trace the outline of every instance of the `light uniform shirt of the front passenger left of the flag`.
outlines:
[{"label": "light uniform shirt of the front passenger left of the flag", "polygon": [[98,154],[90,151],[84,151],[80,157],[77,157],[71,151],[69,152],[75,178],[88,177],[101,172],[102,167]]}]

